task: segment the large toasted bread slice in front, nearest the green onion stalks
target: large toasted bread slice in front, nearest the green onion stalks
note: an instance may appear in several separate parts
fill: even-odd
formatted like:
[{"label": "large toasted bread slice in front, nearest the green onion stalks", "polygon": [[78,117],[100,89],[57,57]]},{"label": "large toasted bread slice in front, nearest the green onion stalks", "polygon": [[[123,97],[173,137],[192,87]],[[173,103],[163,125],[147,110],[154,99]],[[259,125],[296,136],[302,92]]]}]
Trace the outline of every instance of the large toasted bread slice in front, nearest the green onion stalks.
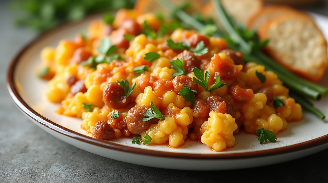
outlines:
[{"label": "large toasted bread slice in front, nearest the green onion stalks", "polygon": [[290,71],[311,80],[322,78],[327,66],[327,42],[313,19],[301,12],[282,14],[259,29],[265,50]]}]

